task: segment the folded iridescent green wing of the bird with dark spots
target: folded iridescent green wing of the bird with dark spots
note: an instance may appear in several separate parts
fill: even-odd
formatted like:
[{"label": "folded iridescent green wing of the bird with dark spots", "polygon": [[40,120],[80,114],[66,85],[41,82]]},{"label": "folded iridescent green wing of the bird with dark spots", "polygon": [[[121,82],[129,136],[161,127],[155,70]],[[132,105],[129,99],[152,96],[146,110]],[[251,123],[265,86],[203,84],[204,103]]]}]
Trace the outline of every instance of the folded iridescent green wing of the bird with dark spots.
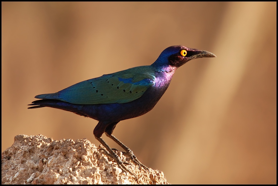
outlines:
[{"label": "folded iridescent green wing of the bird with dark spots", "polygon": [[58,99],[73,104],[127,103],[140,98],[154,84],[151,66],[134,67],[74,84],[39,99]]}]

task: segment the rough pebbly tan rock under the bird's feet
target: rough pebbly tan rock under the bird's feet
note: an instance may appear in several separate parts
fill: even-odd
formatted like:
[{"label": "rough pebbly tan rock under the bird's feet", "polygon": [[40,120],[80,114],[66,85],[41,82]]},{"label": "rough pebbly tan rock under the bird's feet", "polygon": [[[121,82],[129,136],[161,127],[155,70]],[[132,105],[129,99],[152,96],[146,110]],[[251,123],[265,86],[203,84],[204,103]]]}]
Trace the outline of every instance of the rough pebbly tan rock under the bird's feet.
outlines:
[{"label": "rough pebbly tan rock under the bird's feet", "polygon": [[163,172],[138,169],[129,157],[117,155],[137,176],[122,172],[116,162],[87,139],[53,141],[42,135],[15,136],[2,153],[2,184],[168,184]]}]

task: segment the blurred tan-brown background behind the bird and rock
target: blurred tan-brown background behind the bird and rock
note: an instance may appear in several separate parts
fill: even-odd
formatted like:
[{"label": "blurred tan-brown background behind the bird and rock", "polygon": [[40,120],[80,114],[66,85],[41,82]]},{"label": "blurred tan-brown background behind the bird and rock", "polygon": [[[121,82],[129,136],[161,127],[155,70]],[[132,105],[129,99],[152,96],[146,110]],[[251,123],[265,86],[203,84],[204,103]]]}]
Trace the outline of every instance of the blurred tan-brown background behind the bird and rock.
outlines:
[{"label": "blurred tan-brown background behind the bird and rock", "polygon": [[96,120],[27,104],[185,45],[217,58],[180,67],[154,109],[114,136],[171,184],[276,184],[276,2],[1,5],[2,152],[19,134],[98,146]]}]

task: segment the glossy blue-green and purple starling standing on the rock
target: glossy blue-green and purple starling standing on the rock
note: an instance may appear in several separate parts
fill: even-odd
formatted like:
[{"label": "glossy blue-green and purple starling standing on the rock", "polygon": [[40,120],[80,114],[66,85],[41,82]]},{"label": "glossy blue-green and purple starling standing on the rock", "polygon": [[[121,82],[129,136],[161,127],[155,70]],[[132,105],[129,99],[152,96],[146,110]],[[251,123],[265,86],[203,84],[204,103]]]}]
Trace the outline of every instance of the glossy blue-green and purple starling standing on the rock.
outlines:
[{"label": "glossy blue-green and purple starling standing on the rock", "polygon": [[[56,93],[40,94],[33,101],[32,107],[52,107],[90,117],[99,121],[94,128],[95,138],[123,172],[129,172],[120,157],[101,137],[103,133],[122,147],[140,168],[143,165],[133,151],[112,135],[117,123],[122,120],[141,116],[155,106],[167,90],[172,76],[178,67],[192,59],[216,57],[205,50],[188,48],[182,45],[167,47],[151,65],[133,67],[119,72],[104,74],[88,79]],[[135,179],[137,177],[135,176]]]}]

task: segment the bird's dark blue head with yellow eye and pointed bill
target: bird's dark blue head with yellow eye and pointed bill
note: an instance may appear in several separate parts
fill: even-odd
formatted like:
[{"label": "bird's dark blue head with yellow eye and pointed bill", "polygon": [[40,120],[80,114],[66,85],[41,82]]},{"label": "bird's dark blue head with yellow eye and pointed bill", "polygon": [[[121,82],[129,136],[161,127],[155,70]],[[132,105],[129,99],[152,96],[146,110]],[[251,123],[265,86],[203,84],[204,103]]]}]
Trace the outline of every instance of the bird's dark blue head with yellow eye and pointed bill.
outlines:
[{"label": "bird's dark blue head with yellow eye and pointed bill", "polygon": [[158,59],[152,64],[155,67],[180,67],[191,59],[216,57],[205,50],[187,48],[182,45],[171,46],[163,50]]}]

